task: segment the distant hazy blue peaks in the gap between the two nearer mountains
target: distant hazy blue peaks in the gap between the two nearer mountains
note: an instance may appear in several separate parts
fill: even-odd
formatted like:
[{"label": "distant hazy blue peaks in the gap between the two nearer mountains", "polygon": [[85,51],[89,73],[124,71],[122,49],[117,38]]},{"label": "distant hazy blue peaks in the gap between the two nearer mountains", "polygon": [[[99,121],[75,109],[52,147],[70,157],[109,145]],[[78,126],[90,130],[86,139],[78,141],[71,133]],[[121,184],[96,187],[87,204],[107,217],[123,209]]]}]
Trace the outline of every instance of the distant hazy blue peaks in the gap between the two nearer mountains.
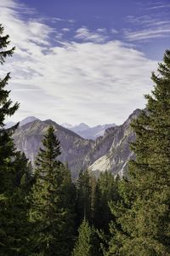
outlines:
[{"label": "distant hazy blue peaks in the gap between the two nearer mountains", "polygon": [[88,125],[81,123],[80,125],[69,125],[69,124],[62,124],[63,127],[76,132],[78,135],[80,135],[83,138],[92,139],[95,140],[99,136],[103,136],[105,133],[105,130],[107,128],[110,128],[112,126],[115,126],[115,124],[106,124],[106,125],[97,125],[94,127],[89,127]]}]

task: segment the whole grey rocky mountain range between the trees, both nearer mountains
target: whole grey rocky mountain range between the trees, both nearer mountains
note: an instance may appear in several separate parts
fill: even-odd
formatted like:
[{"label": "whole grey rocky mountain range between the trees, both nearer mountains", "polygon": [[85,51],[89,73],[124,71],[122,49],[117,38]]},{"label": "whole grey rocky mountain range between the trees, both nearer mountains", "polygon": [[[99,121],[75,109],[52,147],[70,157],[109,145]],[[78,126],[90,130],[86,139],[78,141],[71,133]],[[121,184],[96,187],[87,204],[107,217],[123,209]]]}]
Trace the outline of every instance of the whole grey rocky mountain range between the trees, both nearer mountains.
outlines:
[{"label": "whole grey rocky mountain range between the trees, both nearer mountains", "polygon": [[[77,178],[81,169],[87,168],[95,175],[108,170],[114,175],[119,173],[122,176],[127,170],[127,161],[133,158],[129,143],[135,136],[130,123],[139,113],[140,110],[136,109],[122,125],[107,128],[104,135],[95,140],[81,137],[75,131],[58,125],[53,120],[42,121],[31,117],[33,120],[29,118],[29,122],[26,122],[25,119],[24,124],[14,131],[14,143],[16,148],[25,152],[26,157],[34,163],[37,152],[42,147],[42,136],[48,130],[48,126],[53,125],[61,145],[62,154],[59,160],[68,163],[73,179]],[[80,126],[86,127],[84,131],[88,129],[88,125]]]}]

